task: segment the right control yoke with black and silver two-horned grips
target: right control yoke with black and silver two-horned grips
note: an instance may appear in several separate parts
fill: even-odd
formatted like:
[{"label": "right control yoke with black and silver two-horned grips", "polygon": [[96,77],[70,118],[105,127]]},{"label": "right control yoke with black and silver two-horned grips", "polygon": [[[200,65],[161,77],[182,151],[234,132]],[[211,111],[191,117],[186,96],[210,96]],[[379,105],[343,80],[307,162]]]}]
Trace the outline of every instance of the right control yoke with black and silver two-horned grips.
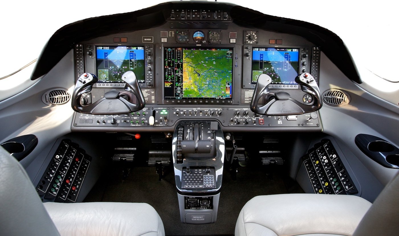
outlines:
[{"label": "right control yoke with black and silver two-horned grips", "polygon": [[[320,90],[312,75],[302,73],[295,78],[295,82],[301,86],[302,91],[310,93],[314,97],[312,105],[306,105],[292,99],[289,93],[278,91],[271,93],[269,84],[272,79],[269,75],[261,74],[251,100],[251,110],[257,114],[268,116],[289,116],[299,115],[308,112],[314,112],[322,107]],[[262,99],[262,105],[258,105],[259,99]]]}]

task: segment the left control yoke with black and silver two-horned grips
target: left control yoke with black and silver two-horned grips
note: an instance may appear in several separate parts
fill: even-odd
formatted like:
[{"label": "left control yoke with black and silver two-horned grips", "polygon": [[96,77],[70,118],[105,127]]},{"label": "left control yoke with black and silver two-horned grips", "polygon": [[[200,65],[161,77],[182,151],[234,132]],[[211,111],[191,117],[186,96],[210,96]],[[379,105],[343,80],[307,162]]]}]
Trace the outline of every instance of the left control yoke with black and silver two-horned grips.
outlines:
[{"label": "left control yoke with black and silver two-horned grips", "polygon": [[72,108],[76,112],[93,114],[93,115],[117,115],[127,114],[141,110],[145,106],[144,96],[138,85],[136,75],[132,71],[128,71],[122,75],[122,80],[126,83],[124,90],[132,93],[136,97],[137,103],[131,103],[124,97],[120,96],[120,92],[112,89],[105,93],[104,97],[99,101],[85,105],[81,102],[81,95],[88,93],[93,88],[93,84],[98,81],[97,76],[84,73],[76,82],[75,89],[72,94]]}]

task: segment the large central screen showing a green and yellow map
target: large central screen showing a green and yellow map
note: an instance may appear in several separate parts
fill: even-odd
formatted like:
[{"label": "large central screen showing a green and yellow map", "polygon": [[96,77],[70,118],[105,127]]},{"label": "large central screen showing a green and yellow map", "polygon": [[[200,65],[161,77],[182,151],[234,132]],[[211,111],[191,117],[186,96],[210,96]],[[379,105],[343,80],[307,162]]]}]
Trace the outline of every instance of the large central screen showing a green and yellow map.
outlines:
[{"label": "large central screen showing a green and yellow map", "polygon": [[232,99],[232,48],[164,48],[164,99]]}]

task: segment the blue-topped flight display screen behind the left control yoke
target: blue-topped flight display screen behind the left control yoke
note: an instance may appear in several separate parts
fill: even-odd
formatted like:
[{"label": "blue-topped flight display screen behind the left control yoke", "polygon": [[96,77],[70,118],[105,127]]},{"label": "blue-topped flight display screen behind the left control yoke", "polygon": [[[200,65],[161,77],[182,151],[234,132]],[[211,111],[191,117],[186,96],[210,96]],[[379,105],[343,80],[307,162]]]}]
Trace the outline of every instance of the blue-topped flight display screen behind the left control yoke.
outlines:
[{"label": "blue-topped flight display screen behind the left control yoke", "polygon": [[124,83],[122,75],[131,70],[144,82],[143,46],[96,46],[97,83]]}]

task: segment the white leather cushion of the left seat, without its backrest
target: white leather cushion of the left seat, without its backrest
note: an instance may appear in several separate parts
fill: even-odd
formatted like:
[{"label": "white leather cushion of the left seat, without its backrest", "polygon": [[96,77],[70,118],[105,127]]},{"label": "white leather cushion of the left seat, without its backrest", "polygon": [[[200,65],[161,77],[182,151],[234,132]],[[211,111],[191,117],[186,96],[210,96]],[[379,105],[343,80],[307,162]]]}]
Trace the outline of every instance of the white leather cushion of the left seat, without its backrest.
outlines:
[{"label": "white leather cushion of the left seat, without its backrest", "polygon": [[147,203],[43,203],[65,236],[164,236],[158,213]]}]

